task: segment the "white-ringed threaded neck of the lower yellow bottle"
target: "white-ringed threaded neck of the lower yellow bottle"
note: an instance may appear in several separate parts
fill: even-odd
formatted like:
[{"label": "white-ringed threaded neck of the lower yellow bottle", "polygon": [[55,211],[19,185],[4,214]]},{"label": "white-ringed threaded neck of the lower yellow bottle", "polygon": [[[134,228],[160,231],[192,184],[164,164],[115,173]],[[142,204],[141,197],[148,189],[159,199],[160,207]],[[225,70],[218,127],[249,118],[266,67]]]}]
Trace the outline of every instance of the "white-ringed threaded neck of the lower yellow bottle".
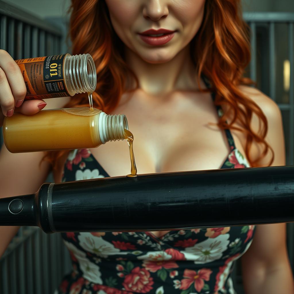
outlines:
[{"label": "white-ringed threaded neck of the lower yellow bottle", "polygon": [[128,121],[124,114],[106,114],[101,112],[99,115],[99,135],[101,142],[119,141],[125,138],[124,129],[128,130]]}]

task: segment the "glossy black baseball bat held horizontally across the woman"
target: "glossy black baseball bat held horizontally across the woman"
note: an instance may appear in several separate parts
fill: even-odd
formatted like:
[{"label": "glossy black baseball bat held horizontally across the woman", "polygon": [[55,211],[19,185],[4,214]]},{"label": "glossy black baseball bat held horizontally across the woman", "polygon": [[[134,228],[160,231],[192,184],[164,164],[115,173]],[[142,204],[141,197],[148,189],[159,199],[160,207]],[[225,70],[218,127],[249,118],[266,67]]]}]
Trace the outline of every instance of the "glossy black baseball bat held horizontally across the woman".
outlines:
[{"label": "glossy black baseball bat held horizontally across the woman", "polygon": [[44,183],[0,199],[0,226],[45,233],[155,231],[294,221],[294,166]]}]

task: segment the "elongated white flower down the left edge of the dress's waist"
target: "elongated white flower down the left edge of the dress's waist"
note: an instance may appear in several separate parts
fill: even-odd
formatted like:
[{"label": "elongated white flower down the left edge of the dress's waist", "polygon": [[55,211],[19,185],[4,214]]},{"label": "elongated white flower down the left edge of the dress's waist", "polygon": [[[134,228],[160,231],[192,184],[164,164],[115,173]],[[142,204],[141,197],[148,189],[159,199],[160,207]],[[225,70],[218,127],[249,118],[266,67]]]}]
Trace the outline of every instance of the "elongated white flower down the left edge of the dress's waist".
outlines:
[{"label": "elongated white flower down the left edge of the dress's waist", "polygon": [[63,240],[63,242],[77,259],[80,269],[83,273],[83,278],[92,283],[102,284],[99,266],[91,263],[91,261],[86,258],[86,253],[76,248],[74,244],[67,242],[66,240]]}]

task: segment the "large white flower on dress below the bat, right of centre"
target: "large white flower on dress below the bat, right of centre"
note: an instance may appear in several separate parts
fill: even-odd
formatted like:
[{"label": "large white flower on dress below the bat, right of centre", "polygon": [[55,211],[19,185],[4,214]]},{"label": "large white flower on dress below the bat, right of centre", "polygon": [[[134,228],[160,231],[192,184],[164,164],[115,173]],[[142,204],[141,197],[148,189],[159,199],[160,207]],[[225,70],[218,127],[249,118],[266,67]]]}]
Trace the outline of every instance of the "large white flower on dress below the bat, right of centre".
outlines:
[{"label": "large white flower on dress below the bat, right of centre", "polygon": [[208,238],[180,252],[185,255],[186,260],[194,260],[195,264],[212,262],[220,259],[223,252],[228,249],[230,243],[228,240],[229,236],[229,234],[223,234],[213,239]]}]

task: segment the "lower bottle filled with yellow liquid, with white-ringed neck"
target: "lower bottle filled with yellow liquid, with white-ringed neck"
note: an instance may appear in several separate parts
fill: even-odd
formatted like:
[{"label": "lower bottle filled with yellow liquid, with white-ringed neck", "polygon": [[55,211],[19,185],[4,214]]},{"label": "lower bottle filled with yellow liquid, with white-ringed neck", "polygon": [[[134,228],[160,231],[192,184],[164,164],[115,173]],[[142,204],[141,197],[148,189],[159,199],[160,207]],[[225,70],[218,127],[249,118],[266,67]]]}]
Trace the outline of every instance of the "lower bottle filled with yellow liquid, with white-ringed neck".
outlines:
[{"label": "lower bottle filled with yellow liquid, with white-ringed neck", "polygon": [[125,115],[108,115],[88,107],[62,108],[5,117],[3,138],[11,153],[95,148],[125,139],[125,129]]}]

